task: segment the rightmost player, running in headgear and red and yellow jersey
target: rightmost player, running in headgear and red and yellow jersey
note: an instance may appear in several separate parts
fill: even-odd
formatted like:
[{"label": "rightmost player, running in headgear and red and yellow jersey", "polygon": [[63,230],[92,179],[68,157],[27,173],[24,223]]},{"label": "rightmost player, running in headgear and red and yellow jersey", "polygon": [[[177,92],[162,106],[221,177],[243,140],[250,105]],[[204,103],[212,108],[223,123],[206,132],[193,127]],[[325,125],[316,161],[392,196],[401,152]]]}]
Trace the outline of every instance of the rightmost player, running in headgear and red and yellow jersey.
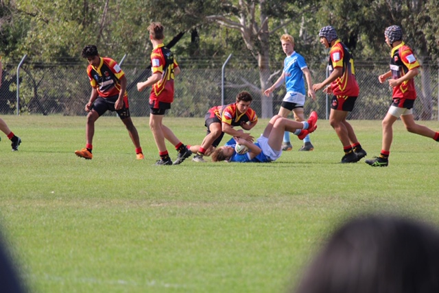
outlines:
[{"label": "rightmost player, running in headgear and red and yellow jersey", "polygon": [[366,163],[374,167],[385,167],[389,164],[390,146],[393,139],[392,126],[401,117],[407,131],[427,136],[439,142],[439,132],[428,127],[419,125],[413,117],[413,105],[416,99],[414,77],[418,75],[419,62],[416,60],[410,47],[403,42],[403,31],[398,25],[392,25],[384,31],[385,43],[392,51],[390,52],[390,71],[379,75],[381,84],[389,79],[389,86],[393,88],[392,105],[385,115],[383,122],[383,142],[379,157],[366,160]]}]

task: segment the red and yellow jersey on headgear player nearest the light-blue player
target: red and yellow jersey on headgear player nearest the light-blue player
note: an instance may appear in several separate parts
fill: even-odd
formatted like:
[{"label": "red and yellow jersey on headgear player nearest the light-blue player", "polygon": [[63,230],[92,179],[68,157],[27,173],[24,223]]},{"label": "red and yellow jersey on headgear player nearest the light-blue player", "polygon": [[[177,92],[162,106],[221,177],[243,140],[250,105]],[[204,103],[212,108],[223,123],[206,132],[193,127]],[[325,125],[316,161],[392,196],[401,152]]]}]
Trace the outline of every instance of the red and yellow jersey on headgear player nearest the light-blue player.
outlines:
[{"label": "red and yellow jersey on headgear player nearest the light-blue player", "polygon": [[334,68],[342,67],[343,75],[331,82],[331,88],[335,96],[358,97],[359,87],[355,79],[354,60],[351,52],[345,44],[336,40],[329,51],[329,72]]}]

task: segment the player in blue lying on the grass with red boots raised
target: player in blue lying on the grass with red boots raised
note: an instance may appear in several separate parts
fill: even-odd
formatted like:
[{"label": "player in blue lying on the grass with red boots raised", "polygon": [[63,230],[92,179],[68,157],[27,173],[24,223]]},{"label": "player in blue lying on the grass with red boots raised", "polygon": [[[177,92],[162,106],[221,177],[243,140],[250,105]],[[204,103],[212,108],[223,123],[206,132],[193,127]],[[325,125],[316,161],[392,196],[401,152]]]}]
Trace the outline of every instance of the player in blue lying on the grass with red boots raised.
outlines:
[{"label": "player in blue lying on the grass with red boots raised", "polygon": [[308,121],[297,122],[276,115],[271,118],[262,136],[257,142],[248,142],[243,138],[235,138],[238,144],[244,144],[249,151],[240,155],[232,146],[219,146],[212,154],[213,162],[272,162],[282,154],[283,133],[292,132],[303,140],[305,136],[317,128],[317,113],[311,112]]}]

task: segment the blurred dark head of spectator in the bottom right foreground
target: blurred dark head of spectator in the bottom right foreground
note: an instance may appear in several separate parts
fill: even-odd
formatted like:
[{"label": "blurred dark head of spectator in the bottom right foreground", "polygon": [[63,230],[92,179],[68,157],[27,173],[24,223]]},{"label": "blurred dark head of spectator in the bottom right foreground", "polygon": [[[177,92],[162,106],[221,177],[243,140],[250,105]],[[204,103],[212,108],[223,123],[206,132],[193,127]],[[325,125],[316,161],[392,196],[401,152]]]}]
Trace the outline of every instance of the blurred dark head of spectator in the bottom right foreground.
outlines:
[{"label": "blurred dark head of spectator in the bottom right foreground", "polygon": [[390,216],[356,218],[335,231],[298,293],[439,292],[439,232]]}]

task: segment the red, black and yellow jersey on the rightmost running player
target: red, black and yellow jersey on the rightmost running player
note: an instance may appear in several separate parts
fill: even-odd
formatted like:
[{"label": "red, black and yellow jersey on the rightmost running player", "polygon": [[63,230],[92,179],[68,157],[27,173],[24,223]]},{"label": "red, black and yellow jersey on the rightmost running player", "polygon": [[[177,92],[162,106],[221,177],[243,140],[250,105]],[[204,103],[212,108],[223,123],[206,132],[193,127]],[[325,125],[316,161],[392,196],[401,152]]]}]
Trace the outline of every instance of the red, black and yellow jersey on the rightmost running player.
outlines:
[{"label": "red, black and yellow jersey on the rightmost running player", "polygon": [[[392,48],[390,53],[390,71],[392,79],[399,79],[414,68],[418,68],[419,62],[413,55],[412,49],[404,42]],[[393,98],[405,98],[409,100],[416,99],[416,89],[414,79],[404,81],[399,86],[393,88]]]}]

